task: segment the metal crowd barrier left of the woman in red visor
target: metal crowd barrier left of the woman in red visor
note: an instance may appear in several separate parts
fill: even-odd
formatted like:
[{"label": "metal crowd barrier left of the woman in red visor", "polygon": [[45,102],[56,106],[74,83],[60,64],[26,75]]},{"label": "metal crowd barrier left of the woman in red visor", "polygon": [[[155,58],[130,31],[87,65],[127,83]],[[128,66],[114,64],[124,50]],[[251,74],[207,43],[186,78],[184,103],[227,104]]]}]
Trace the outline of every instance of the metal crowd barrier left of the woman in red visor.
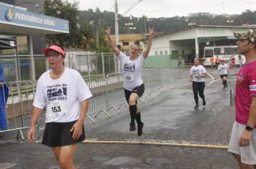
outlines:
[{"label": "metal crowd barrier left of the woman in red visor", "polygon": [[[9,97],[7,104],[5,105],[5,111],[1,112],[1,117],[5,118],[6,128],[0,130],[1,132],[9,132],[17,130],[17,139],[21,135],[23,129],[29,128],[32,118],[32,102],[34,100],[34,84],[31,81],[18,81],[7,82],[6,86],[9,88]],[[4,85],[1,86],[1,90],[4,90]]]}]

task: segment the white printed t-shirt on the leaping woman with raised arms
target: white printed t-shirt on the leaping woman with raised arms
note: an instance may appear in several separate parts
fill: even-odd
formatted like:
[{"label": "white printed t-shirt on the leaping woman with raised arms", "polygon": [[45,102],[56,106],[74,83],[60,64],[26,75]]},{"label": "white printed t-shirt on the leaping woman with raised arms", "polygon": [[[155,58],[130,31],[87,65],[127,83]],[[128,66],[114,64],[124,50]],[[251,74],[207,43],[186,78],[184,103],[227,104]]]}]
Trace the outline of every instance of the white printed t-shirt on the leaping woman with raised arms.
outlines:
[{"label": "white printed t-shirt on the leaping woman with raised arms", "polygon": [[132,91],[143,83],[141,71],[145,59],[140,54],[136,59],[130,60],[123,52],[120,52],[118,58],[124,75],[124,89]]}]

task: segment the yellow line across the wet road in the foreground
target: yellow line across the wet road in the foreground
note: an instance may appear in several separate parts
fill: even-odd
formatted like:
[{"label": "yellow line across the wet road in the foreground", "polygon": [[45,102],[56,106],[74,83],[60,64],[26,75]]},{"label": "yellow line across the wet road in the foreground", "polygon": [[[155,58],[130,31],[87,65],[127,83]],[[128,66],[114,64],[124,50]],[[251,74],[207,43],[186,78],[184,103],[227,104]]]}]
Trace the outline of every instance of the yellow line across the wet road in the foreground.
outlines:
[{"label": "yellow line across the wet road in the foreground", "polygon": [[100,140],[84,140],[82,143],[91,144],[136,144],[136,145],[170,145],[180,147],[194,147],[194,148],[221,148],[227,149],[227,145],[200,145],[190,143],[160,143],[160,142],[144,142],[144,141],[100,141]]}]

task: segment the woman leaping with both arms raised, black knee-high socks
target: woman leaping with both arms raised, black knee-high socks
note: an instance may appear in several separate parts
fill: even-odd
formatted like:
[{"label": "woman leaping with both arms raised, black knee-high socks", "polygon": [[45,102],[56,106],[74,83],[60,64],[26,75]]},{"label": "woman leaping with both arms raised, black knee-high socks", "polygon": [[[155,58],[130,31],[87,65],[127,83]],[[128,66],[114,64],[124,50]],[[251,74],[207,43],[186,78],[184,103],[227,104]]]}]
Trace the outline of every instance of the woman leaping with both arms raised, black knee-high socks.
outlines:
[{"label": "woman leaping with both arms raised, black knee-high socks", "polygon": [[123,52],[121,52],[110,37],[110,27],[106,28],[106,36],[109,40],[109,44],[113,49],[116,56],[119,58],[122,74],[124,75],[124,95],[129,104],[129,112],[131,117],[130,131],[136,130],[135,120],[137,122],[137,135],[142,135],[142,128],[144,123],[141,121],[140,111],[137,107],[137,100],[143,95],[145,86],[141,78],[142,64],[147,58],[150,52],[150,47],[152,45],[152,36],[154,34],[153,28],[149,28],[149,37],[147,42],[147,48],[142,54],[140,54],[140,47],[137,45],[132,45],[130,49],[130,55],[127,57]]}]

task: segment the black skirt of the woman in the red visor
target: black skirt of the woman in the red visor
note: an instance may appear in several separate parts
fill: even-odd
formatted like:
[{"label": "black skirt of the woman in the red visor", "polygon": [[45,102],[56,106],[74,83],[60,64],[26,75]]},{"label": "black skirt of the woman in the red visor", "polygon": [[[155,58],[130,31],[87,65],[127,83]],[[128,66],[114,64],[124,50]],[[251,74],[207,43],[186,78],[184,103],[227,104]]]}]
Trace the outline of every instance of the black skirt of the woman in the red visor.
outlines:
[{"label": "black skirt of the woman in the red visor", "polygon": [[86,134],[83,132],[78,140],[73,140],[73,132],[70,132],[74,122],[47,122],[45,125],[44,135],[42,136],[42,144],[49,147],[65,146],[80,143],[86,139]]}]

